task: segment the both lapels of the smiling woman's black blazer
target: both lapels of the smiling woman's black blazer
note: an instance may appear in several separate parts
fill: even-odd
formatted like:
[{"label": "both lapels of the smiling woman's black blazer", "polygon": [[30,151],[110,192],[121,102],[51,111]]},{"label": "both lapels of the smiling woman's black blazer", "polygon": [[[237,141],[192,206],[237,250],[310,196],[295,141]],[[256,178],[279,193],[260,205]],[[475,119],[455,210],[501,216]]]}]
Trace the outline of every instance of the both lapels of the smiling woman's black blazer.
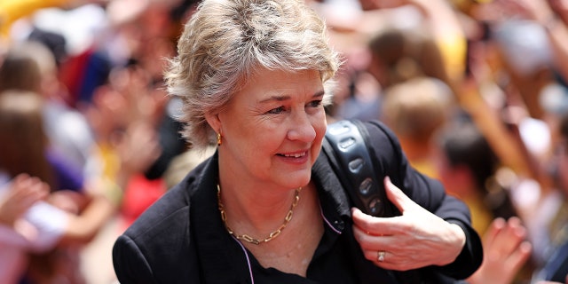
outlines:
[{"label": "both lapels of the smiling woman's black blazer", "polygon": [[[204,280],[208,283],[250,283],[248,256],[244,247],[227,233],[217,206],[218,154],[208,160],[191,197],[190,232],[201,262]],[[312,180],[319,192],[319,203],[327,225],[343,232],[345,220],[351,219],[341,182],[332,170],[325,154],[319,154],[312,168]]]}]

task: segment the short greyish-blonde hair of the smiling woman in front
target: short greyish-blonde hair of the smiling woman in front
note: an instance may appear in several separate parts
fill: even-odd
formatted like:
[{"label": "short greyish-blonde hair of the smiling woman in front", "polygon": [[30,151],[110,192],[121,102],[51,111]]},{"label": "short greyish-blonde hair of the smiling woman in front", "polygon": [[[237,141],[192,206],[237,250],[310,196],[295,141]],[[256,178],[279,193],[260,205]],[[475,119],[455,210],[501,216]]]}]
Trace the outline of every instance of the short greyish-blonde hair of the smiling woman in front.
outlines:
[{"label": "short greyish-blonde hair of the smiling woman in front", "polygon": [[182,99],[183,135],[196,148],[214,140],[205,114],[219,112],[261,68],[319,70],[324,103],[340,65],[323,20],[304,0],[204,0],[185,25],[166,83]]}]

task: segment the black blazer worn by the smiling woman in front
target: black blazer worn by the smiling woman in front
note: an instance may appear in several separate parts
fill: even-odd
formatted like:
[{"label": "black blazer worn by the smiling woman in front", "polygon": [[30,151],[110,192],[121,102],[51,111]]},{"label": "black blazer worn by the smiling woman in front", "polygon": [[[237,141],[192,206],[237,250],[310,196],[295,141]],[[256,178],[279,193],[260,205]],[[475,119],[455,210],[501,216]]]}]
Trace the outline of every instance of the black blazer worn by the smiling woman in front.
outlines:
[{"label": "black blazer worn by the smiling woman in front", "polygon": [[[146,209],[114,243],[114,271],[123,283],[444,283],[464,279],[481,264],[483,250],[470,226],[469,209],[446,195],[442,185],[412,169],[394,134],[366,123],[375,162],[406,195],[448,222],[460,225],[467,241],[453,264],[390,272],[362,255],[352,235],[351,204],[320,154],[312,168],[325,233],[308,279],[264,269],[229,235],[217,209],[217,153]],[[253,280],[254,279],[254,280]]]}]

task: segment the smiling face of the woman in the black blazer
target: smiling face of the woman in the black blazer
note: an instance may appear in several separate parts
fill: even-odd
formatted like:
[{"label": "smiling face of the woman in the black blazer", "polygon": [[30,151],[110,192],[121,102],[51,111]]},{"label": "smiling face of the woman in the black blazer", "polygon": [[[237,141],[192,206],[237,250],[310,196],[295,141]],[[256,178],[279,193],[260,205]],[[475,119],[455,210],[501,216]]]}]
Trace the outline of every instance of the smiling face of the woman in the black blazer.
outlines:
[{"label": "smiling face of the woman in the black blazer", "polygon": [[256,73],[217,116],[222,169],[243,181],[306,185],[327,128],[323,95],[318,71]]}]

